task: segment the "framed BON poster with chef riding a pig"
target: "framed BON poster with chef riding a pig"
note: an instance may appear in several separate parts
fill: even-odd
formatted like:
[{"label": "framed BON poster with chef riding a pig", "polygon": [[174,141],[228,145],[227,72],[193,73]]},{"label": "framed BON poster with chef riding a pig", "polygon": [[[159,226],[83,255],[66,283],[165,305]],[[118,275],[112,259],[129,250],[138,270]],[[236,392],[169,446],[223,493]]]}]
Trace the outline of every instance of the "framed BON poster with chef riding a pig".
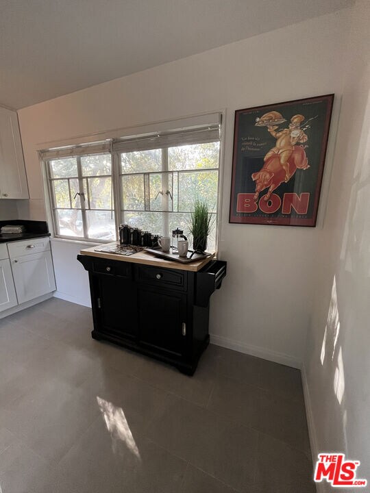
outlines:
[{"label": "framed BON poster with chef riding a pig", "polygon": [[333,100],[235,112],[230,223],[316,225]]}]

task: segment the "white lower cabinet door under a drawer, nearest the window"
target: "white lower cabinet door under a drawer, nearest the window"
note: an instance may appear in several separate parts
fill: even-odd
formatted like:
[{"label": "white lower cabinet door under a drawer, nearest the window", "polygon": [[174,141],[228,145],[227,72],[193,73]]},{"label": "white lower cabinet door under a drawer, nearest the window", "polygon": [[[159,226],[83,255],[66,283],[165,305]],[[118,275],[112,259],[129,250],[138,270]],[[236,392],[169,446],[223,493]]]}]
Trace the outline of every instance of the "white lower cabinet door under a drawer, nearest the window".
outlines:
[{"label": "white lower cabinet door under a drawer, nearest the window", "polygon": [[49,251],[13,259],[12,270],[18,303],[25,303],[56,289]]}]

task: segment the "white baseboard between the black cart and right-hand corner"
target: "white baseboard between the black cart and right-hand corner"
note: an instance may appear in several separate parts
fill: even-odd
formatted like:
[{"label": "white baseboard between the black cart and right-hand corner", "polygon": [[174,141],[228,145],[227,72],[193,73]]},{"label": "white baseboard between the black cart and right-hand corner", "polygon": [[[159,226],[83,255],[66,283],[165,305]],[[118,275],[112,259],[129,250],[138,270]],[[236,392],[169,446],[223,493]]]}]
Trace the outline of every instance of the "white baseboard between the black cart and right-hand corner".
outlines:
[{"label": "white baseboard between the black cart and right-hand corner", "polygon": [[262,359],[268,359],[269,361],[275,363],[291,366],[292,368],[298,368],[299,370],[301,369],[300,359],[284,353],[278,353],[277,351],[271,351],[271,349],[245,344],[244,342],[222,336],[215,336],[214,334],[210,334],[210,342],[211,344],[216,344],[216,346],[234,349],[234,351],[238,351],[239,353],[245,353],[251,356],[260,357]]}]

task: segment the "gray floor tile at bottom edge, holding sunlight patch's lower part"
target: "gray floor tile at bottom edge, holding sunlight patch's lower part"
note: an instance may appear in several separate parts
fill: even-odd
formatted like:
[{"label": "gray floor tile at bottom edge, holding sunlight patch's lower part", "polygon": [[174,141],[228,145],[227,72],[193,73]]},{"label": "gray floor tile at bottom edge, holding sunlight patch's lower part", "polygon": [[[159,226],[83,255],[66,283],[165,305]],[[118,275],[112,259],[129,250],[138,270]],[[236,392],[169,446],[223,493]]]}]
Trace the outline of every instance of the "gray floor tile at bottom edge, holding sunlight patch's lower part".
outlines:
[{"label": "gray floor tile at bottom edge, holding sunlight patch's lower part", "polygon": [[180,489],[186,462],[132,431],[123,415],[111,418],[93,423],[63,457],[42,493],[53,491],[49,488],[56,483],[69,493],[173,493]]}]

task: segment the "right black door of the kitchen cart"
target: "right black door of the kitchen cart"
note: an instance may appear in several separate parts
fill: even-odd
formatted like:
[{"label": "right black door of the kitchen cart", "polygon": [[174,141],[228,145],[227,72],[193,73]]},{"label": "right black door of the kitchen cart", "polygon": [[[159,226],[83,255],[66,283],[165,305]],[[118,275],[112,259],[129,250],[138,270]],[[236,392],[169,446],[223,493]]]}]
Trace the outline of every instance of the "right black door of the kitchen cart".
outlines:
[{"label": "right black door of the kitchen cart", "polygon": [[140,344],[171,355],[184,354],[186,343],[186,294],[173,290],[138,288]]}]

